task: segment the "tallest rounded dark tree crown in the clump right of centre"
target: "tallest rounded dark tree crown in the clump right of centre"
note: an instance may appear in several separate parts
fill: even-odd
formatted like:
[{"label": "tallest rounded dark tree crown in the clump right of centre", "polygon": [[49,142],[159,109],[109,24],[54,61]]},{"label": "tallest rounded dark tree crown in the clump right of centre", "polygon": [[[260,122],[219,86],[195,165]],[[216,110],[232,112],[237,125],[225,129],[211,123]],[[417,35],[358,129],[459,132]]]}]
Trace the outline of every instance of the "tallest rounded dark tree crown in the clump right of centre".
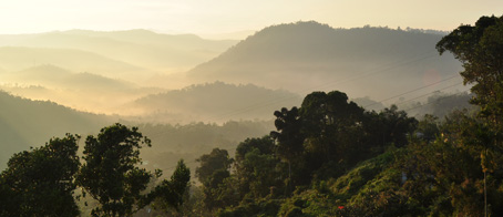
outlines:
[{"label": "tallest rounded dark tree crown in the clump right of centre", "polygon": [[363,108],[348,102],[346,93],[310,93],[300,108],[302,132],[307,137],[305,146],[316,158],[325,159],[321,163],[347,159],[345,156],[359,145],[362,115]]}]

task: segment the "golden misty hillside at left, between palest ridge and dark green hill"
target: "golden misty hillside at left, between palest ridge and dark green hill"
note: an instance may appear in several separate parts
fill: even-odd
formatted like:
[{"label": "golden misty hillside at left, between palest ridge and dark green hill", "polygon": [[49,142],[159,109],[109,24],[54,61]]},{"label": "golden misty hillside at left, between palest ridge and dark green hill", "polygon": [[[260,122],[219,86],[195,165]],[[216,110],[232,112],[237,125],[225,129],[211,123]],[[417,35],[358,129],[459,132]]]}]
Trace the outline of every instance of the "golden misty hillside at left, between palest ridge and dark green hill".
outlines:
[{"label": "golden misty hillside at left, between palest ridge and dark green hill", "polygon": [[0,73],[0,89],[14,95],[107,114],[134,99],[162,91],[124,80],[73,72],[52,64],[3,72]]}]

